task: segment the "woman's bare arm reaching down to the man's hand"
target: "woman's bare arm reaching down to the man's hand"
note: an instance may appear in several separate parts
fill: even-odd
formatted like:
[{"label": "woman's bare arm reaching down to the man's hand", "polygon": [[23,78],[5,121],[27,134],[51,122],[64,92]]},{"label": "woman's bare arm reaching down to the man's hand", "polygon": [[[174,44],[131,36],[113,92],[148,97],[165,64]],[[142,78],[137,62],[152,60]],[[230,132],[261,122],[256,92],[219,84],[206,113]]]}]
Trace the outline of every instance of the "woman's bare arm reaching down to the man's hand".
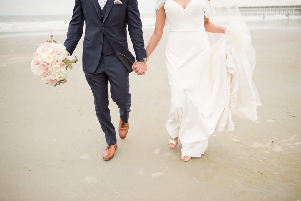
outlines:
[{"label": "woman's bare arm reaching down to the man's hand", "polygon": [[147,58],[151,55],[151,53],[157,47],[159,41],[161,40],[162,34],[163,34],[164,24],[165,24],[165,20],[166,20],[164,4],[160,8],[160,10],[157,10],[157,19],[156,19],[155,30],[154,30],[154,33],[151,36],[151,39],[148,42],[147,47],[145,49]]}]

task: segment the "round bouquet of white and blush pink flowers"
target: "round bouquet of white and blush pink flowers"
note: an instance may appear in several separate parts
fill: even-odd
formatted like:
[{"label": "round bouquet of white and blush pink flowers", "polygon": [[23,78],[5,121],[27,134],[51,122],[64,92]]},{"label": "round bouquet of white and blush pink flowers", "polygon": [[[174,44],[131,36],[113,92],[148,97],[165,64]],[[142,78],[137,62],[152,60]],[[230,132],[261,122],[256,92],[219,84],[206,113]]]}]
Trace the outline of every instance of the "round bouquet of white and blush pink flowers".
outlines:
[{"label": "round bouquet of white and blush pink flowers", "polygon": [[46,85],[56,86],[67,82],[67,69],[72,69],[76,56],[68,56],[64,45],[52,39],[43,43],[33,54],[31,71]]}]

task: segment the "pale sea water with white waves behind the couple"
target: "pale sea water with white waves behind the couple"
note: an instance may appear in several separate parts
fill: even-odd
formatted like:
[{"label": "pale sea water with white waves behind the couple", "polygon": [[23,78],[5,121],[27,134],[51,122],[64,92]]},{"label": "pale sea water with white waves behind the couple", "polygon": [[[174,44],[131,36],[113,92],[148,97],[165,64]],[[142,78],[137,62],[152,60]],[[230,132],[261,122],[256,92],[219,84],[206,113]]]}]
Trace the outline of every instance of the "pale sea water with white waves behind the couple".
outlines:
[{"label": "pale sea water with white waves behind the couple", "polygon": [[[301,27],[301,16],[271,15],[242,16],[250,29],[252,27]],[[0,38],[17,36],[66,35],[70,15],[61,16],[0,16]],[[227,26],[233,19],[229,16],[215,16],[216,24]],[[153,14],[141,15],[143,29],[154,29]]]}]

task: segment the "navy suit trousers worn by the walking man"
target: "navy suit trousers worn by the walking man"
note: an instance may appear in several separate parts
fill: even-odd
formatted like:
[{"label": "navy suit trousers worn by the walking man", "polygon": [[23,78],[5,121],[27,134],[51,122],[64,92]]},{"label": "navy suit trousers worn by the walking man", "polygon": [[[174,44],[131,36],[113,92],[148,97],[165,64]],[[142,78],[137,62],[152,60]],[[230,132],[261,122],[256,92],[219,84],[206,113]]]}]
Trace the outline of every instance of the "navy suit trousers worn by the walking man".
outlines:
[{"label": "navy suit trousers worn by the walking man", "polygon": [[112,100],[119,107],[120,118],[123,122],[128,122],[132,103],[129,93],[129,72],[116,54],[104,56],[101,53],[95,72],[91,74],[85,72],[85,77],[94,96],[96,115],[105,133],[106,142],[108,145],[115,145],[117,139],[115,127],[111,123],[108,82],[111,86]]}]

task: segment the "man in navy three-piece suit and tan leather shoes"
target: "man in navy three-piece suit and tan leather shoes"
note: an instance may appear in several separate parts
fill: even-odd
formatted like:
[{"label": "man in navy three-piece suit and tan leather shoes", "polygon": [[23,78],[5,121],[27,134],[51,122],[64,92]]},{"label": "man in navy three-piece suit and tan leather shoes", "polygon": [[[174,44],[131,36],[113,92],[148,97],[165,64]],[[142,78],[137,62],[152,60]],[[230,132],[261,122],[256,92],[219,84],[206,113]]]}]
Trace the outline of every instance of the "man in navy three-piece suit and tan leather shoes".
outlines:
[{"label": "man in navy three-piece suit and tan leather shoes", "polygon": [[[94,96],[96,115],[105,133],[107,146],[103,158],[110,160],[115,154],[117,139],[108,107],[108,81],[111,97],[119,107],[119,136],[123,139],[129,129],[129,72],[133,63],[136,69],[140,68],[142,72],[147,70],[137,0],[75,0],[64,43],[70,55],[82,37],[84,22],[82,68]],[[127,26],[136,59],[128,49]]]}]

